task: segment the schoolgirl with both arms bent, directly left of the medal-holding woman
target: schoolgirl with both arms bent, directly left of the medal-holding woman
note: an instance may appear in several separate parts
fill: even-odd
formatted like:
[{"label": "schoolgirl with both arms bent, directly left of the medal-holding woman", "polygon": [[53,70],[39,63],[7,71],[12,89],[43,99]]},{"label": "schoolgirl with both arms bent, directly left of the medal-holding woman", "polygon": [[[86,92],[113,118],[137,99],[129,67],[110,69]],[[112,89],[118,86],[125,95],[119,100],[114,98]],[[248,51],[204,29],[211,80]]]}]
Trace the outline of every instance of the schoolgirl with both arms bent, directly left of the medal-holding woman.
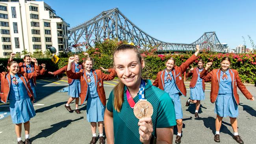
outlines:
[{"label": "schoolgirl with both arms bent, directly left of the medal-holding woman", "polygon": [[[92,57],[87,57],[83,60],[84,68],[79,72],[72,72],[72,63],[74,57],[69,57],[67,67],[67,76],[70,79],[80,79],[81,81],[81,105],[87,100],[87,120],[91,122],[91,131],[93,133],[90,144],[96,144],[96,122],[100,132],[100,144],[105,144],[103,136],[104,130],[104,111],[106,109],[106,94],[103,87],[103,81],[109,81],[115,78],[116,72],[113,68],[106,71],[110,74],[104,74],[101,70],[94,70],[94,60]],[[104,68],[100,67],[102,70]]]}]

